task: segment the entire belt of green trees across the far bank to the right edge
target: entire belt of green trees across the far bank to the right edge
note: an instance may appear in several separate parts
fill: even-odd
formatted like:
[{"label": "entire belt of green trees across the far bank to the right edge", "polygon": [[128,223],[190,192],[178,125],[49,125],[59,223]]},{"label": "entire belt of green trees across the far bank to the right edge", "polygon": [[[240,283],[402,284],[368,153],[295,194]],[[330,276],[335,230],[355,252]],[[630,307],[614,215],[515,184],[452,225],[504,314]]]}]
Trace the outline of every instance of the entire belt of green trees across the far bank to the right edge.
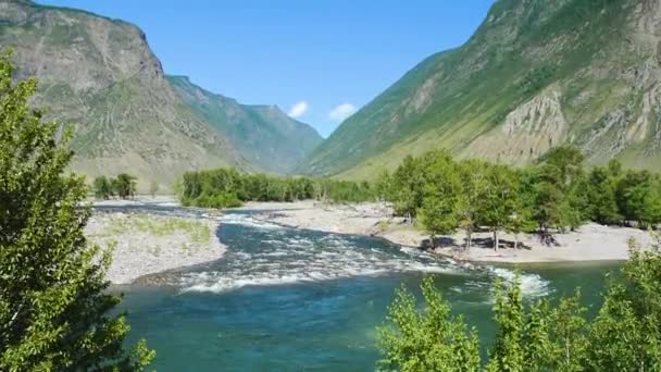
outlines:
[{"label": "entire belt of green trees across the far bank to the right edge", "polygon": [[[176,185],[184,206],[238,207],[245,201],[384,201],[433,237],[466,233],[465,248],[477,230],[539,233],[548,245],[553,234],[588,221],[604,225],[653,228],[661,223],[661,177],[624,170],[616,160],[587,166],[573,146],[552,148],[526,168],[478,159],[458,160],[447,150],[407,157],[374,182],[282,177],[223,168],[187,172]],[[432,239],[434,241],[434,239]],[[516,246],[517,243],[515,241]]]}]

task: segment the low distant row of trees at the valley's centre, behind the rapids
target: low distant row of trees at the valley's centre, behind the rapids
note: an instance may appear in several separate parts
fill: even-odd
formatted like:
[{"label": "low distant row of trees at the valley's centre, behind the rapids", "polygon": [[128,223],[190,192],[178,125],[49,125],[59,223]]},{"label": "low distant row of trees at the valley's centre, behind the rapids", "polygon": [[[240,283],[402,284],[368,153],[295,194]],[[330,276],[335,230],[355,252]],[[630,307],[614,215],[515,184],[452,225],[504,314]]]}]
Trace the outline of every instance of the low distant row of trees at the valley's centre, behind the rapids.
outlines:
[{"label": "low distant row of trees at the valley's centre, behind the rapids", "polygon": [[303,199],[333,202],[375,200],[369,183],[340,179],[276,177],[263,173],[240,173],[232,168],[186,172],[178,186],[184,206],[232,208],[244,201],[295,201]]}]

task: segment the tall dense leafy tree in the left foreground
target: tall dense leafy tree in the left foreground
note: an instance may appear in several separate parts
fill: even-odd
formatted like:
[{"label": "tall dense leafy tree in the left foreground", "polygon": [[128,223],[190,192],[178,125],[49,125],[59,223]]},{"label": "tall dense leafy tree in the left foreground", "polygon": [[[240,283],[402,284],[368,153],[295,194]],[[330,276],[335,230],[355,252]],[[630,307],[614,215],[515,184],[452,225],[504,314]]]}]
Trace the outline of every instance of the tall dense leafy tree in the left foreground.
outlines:
[{"label": "tall dense leafy tree in the left foreground", "polygon": [[83,177],[65,174],[71,132],[28,108],[34,78],[13,84],[0,58],[0,370],[140,370],[153,352],[124,348],[128,325],[107,292],[109,251],[89,245]]}]

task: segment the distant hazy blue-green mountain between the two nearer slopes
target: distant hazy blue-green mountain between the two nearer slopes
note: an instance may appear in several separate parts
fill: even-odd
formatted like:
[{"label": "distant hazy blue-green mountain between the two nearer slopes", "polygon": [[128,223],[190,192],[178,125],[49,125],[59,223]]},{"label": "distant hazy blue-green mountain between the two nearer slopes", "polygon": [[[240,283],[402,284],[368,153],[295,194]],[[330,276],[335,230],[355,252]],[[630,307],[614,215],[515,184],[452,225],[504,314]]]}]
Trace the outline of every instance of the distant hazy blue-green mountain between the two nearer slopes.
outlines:
[{"label": "distant hazy blue-green mountain between the two nearer slopes", "polygon": [[291,172],[322,141],[310,125],[276,106],[240,104],[212,94],[186,76],[166,76],[190,110],[223,134],[250,163],[270,173]]}]

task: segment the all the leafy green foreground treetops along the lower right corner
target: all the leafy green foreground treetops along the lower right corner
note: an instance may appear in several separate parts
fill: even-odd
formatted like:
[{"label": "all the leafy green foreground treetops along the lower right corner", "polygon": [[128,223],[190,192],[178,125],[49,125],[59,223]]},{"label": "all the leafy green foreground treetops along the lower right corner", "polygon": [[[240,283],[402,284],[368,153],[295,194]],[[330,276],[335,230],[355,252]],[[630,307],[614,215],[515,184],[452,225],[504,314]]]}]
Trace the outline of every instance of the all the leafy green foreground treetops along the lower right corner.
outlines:
[{"label": "all the leafy green foreground treetops along the lower right corner", "polygon": [[[498,282],[494,320],[497,334],[489,347],[487,371],[658,371],[661,369],[661,250],[659,239],[640,249],[610,274],[603,305],[586,318],[581,292],[552,306],[526,303],[519,280]],[[397,293],[388,323],[379,327],[379,367],[406,371],[476,371],[476,333],[466,336],[461,317],[433,287],[422,285],[426,311],[406,289]],[[438,332],[436,332],[438,330]],[[452,350],[452,351],[450,351]],[[457,358],[466,360],[458,364]]]}]

